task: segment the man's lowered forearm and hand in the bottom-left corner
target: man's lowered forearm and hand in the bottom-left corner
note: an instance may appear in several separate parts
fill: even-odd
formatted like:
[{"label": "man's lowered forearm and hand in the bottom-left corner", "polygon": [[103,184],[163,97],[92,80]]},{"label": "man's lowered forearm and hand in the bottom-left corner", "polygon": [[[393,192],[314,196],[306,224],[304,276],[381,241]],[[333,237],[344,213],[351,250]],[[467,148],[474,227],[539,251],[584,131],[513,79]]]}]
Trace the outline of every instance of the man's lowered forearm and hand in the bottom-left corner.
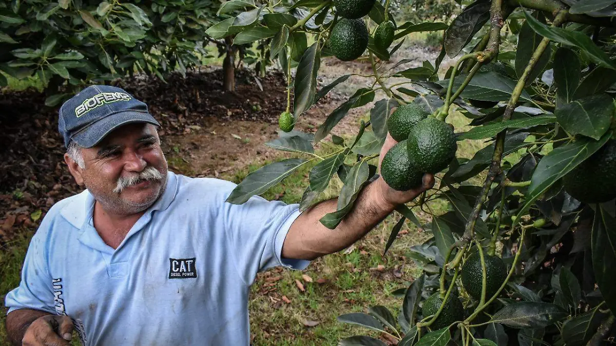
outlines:
[{"label": "man's lowered forearm and hand in the bottom-left corner", "polygon": [[15,346],[68,346],[73,322],[68,316],[19,309],[6,316],[9,341]]}]

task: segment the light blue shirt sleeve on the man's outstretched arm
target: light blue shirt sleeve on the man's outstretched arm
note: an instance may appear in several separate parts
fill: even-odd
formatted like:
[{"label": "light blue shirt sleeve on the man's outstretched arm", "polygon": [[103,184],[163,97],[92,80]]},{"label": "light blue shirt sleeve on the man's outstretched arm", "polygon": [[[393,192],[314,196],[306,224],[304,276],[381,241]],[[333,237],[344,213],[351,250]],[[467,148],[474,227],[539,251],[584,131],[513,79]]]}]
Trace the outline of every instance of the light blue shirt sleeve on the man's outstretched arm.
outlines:
[{"label": "light blue shirt sleeve on the man's outstretched arm", "polygon": [[244,204],[224,204],[224,223],[237,268],[246,284],[257,272],[275,266],[302,270],[308,260],[283,259],[282,245],[299,216],[299,204],[251,197]]}]

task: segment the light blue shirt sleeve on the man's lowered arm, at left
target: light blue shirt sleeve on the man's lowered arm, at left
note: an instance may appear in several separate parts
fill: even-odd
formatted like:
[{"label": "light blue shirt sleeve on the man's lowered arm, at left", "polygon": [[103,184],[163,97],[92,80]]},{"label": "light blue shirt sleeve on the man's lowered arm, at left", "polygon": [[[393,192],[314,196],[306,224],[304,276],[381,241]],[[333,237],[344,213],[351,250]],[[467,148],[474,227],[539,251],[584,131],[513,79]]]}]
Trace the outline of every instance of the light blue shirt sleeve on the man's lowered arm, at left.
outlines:
[{"label": "light blue shirt sleeve on the man's lowered arm, at left", "polygon": [[48,213],[30,241],[19,286],[5,297],[4,305],[9,308],[9,313],[29,308],[56,314],[52,278],[47,266],[46,243],[50,218]]}]

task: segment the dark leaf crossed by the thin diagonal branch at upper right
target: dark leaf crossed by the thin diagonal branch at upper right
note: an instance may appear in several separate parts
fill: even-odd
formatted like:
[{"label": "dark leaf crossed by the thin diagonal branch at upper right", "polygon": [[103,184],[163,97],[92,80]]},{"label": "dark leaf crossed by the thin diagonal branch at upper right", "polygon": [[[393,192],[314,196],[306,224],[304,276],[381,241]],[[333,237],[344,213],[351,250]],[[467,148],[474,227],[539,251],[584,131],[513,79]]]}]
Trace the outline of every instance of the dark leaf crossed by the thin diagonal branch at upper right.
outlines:
[{"label": "dark leaf crossed by the thin diagonal branch at upper right", "polygon": [[[541,14],[541,12],[535,12],[536,15],[539,16],[541,22],[545,23],[545,18]],[[516,74],[519,77],[522,76],[526,66],[529,65],[530,57],[532,57],[535,49],[539,46],[541,42],[541,35],[535,33],[535,31],[530,28],[529,23],[524,23],[520,30],[520,33],[517,38],[517,49],[516,49]],[[552,47],[548,46],[547,49],[541,54],[537,63],[533,67],[532,71],[530,71],[529,79],[526,82],[526,85],[529,86],[537,76],[539,76],[543,70],[545,70],[545,66],[549,63],[549,58],[552,55]]]}]

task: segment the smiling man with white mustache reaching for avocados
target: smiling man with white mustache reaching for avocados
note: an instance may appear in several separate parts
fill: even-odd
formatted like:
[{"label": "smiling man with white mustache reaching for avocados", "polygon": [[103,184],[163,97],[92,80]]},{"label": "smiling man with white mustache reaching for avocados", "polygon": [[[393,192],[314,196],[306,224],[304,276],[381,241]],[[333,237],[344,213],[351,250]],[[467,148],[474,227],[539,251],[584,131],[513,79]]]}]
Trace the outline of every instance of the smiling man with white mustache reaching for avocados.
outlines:
[{"label": "smiling man with white mustache reaching for avocados", "polygon": [[[336,230],[319,219],[334,199],[299,212],[254,196],[225,203],[235,184],[168,172],[147,106],[90,86],[60,108],[73,177],[86,190],[56,203],[31,240],[20,286],[6,296],[14,345],[248,345],[256,273],[303,269],[362,238],[399,192],[369,183]],[[395,142],[389,138],[381,156]]]}]

